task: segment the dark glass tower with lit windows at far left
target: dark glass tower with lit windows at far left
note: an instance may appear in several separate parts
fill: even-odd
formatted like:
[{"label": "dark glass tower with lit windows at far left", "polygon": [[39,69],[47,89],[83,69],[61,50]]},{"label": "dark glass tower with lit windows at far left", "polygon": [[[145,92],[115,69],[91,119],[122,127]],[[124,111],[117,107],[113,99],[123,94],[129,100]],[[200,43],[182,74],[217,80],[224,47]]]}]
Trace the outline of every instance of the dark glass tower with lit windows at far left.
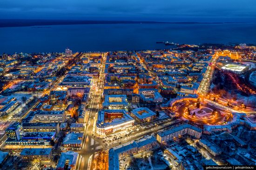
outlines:
[{"label": "dark glass tower with lit windows at far left", "polygon": [[22,133],[22,126],[19,122],[15,122],[14,124],[11,124],[6,129],[7,138],[12,141],[19,141],[21,133]]}]

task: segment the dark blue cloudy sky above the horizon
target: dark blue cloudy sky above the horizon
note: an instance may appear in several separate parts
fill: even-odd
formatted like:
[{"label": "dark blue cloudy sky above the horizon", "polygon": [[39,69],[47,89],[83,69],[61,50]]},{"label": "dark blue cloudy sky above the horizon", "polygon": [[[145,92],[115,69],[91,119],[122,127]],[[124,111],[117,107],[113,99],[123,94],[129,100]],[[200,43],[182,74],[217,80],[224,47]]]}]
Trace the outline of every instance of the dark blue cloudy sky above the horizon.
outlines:
[{"label": "dark blue cloudy sky above the horizon", "polygon": [[0,19],[255,22],[256,0],[0,0]]}]

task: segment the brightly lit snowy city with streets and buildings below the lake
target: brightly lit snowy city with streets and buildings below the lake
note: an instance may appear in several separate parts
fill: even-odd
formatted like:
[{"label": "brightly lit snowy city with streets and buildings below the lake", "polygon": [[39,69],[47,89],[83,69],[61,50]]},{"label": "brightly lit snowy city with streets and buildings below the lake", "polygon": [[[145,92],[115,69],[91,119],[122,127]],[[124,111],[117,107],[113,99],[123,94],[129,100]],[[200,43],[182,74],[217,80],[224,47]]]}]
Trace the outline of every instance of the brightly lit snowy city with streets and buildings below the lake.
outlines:
[{"label": "brightly lit snowy city with streets and buildings below the lake", "polygon": [[174,46],[1,55],[2,168],[255,165],[256,46]]}]

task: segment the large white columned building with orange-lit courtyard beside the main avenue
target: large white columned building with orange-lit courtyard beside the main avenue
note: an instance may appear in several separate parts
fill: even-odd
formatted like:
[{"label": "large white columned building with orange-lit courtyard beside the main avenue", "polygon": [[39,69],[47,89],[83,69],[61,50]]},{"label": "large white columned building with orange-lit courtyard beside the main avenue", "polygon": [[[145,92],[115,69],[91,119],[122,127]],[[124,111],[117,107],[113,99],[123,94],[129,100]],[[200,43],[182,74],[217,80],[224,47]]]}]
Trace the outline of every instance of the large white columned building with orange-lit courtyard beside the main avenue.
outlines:
[{"label": "large white columned building with orange-lit courtyard beside the main avenue", "polygon": [[102,110],[98,113],[96,132],[106,135],[133,126],[135,120],[125,110]]}]

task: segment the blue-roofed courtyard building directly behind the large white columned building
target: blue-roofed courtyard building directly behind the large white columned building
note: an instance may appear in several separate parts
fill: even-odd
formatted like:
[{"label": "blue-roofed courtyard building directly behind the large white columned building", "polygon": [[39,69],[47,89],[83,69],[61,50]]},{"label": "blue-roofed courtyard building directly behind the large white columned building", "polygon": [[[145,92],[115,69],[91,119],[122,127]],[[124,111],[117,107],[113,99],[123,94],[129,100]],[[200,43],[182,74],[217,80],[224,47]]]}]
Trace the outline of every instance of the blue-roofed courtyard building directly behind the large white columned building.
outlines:
[{"label": "blue-roofed courtyard building directly behind the large white columned building", "polygon": [[104,109],[127,109],[126,95],[107,95],[102,106]]}]

